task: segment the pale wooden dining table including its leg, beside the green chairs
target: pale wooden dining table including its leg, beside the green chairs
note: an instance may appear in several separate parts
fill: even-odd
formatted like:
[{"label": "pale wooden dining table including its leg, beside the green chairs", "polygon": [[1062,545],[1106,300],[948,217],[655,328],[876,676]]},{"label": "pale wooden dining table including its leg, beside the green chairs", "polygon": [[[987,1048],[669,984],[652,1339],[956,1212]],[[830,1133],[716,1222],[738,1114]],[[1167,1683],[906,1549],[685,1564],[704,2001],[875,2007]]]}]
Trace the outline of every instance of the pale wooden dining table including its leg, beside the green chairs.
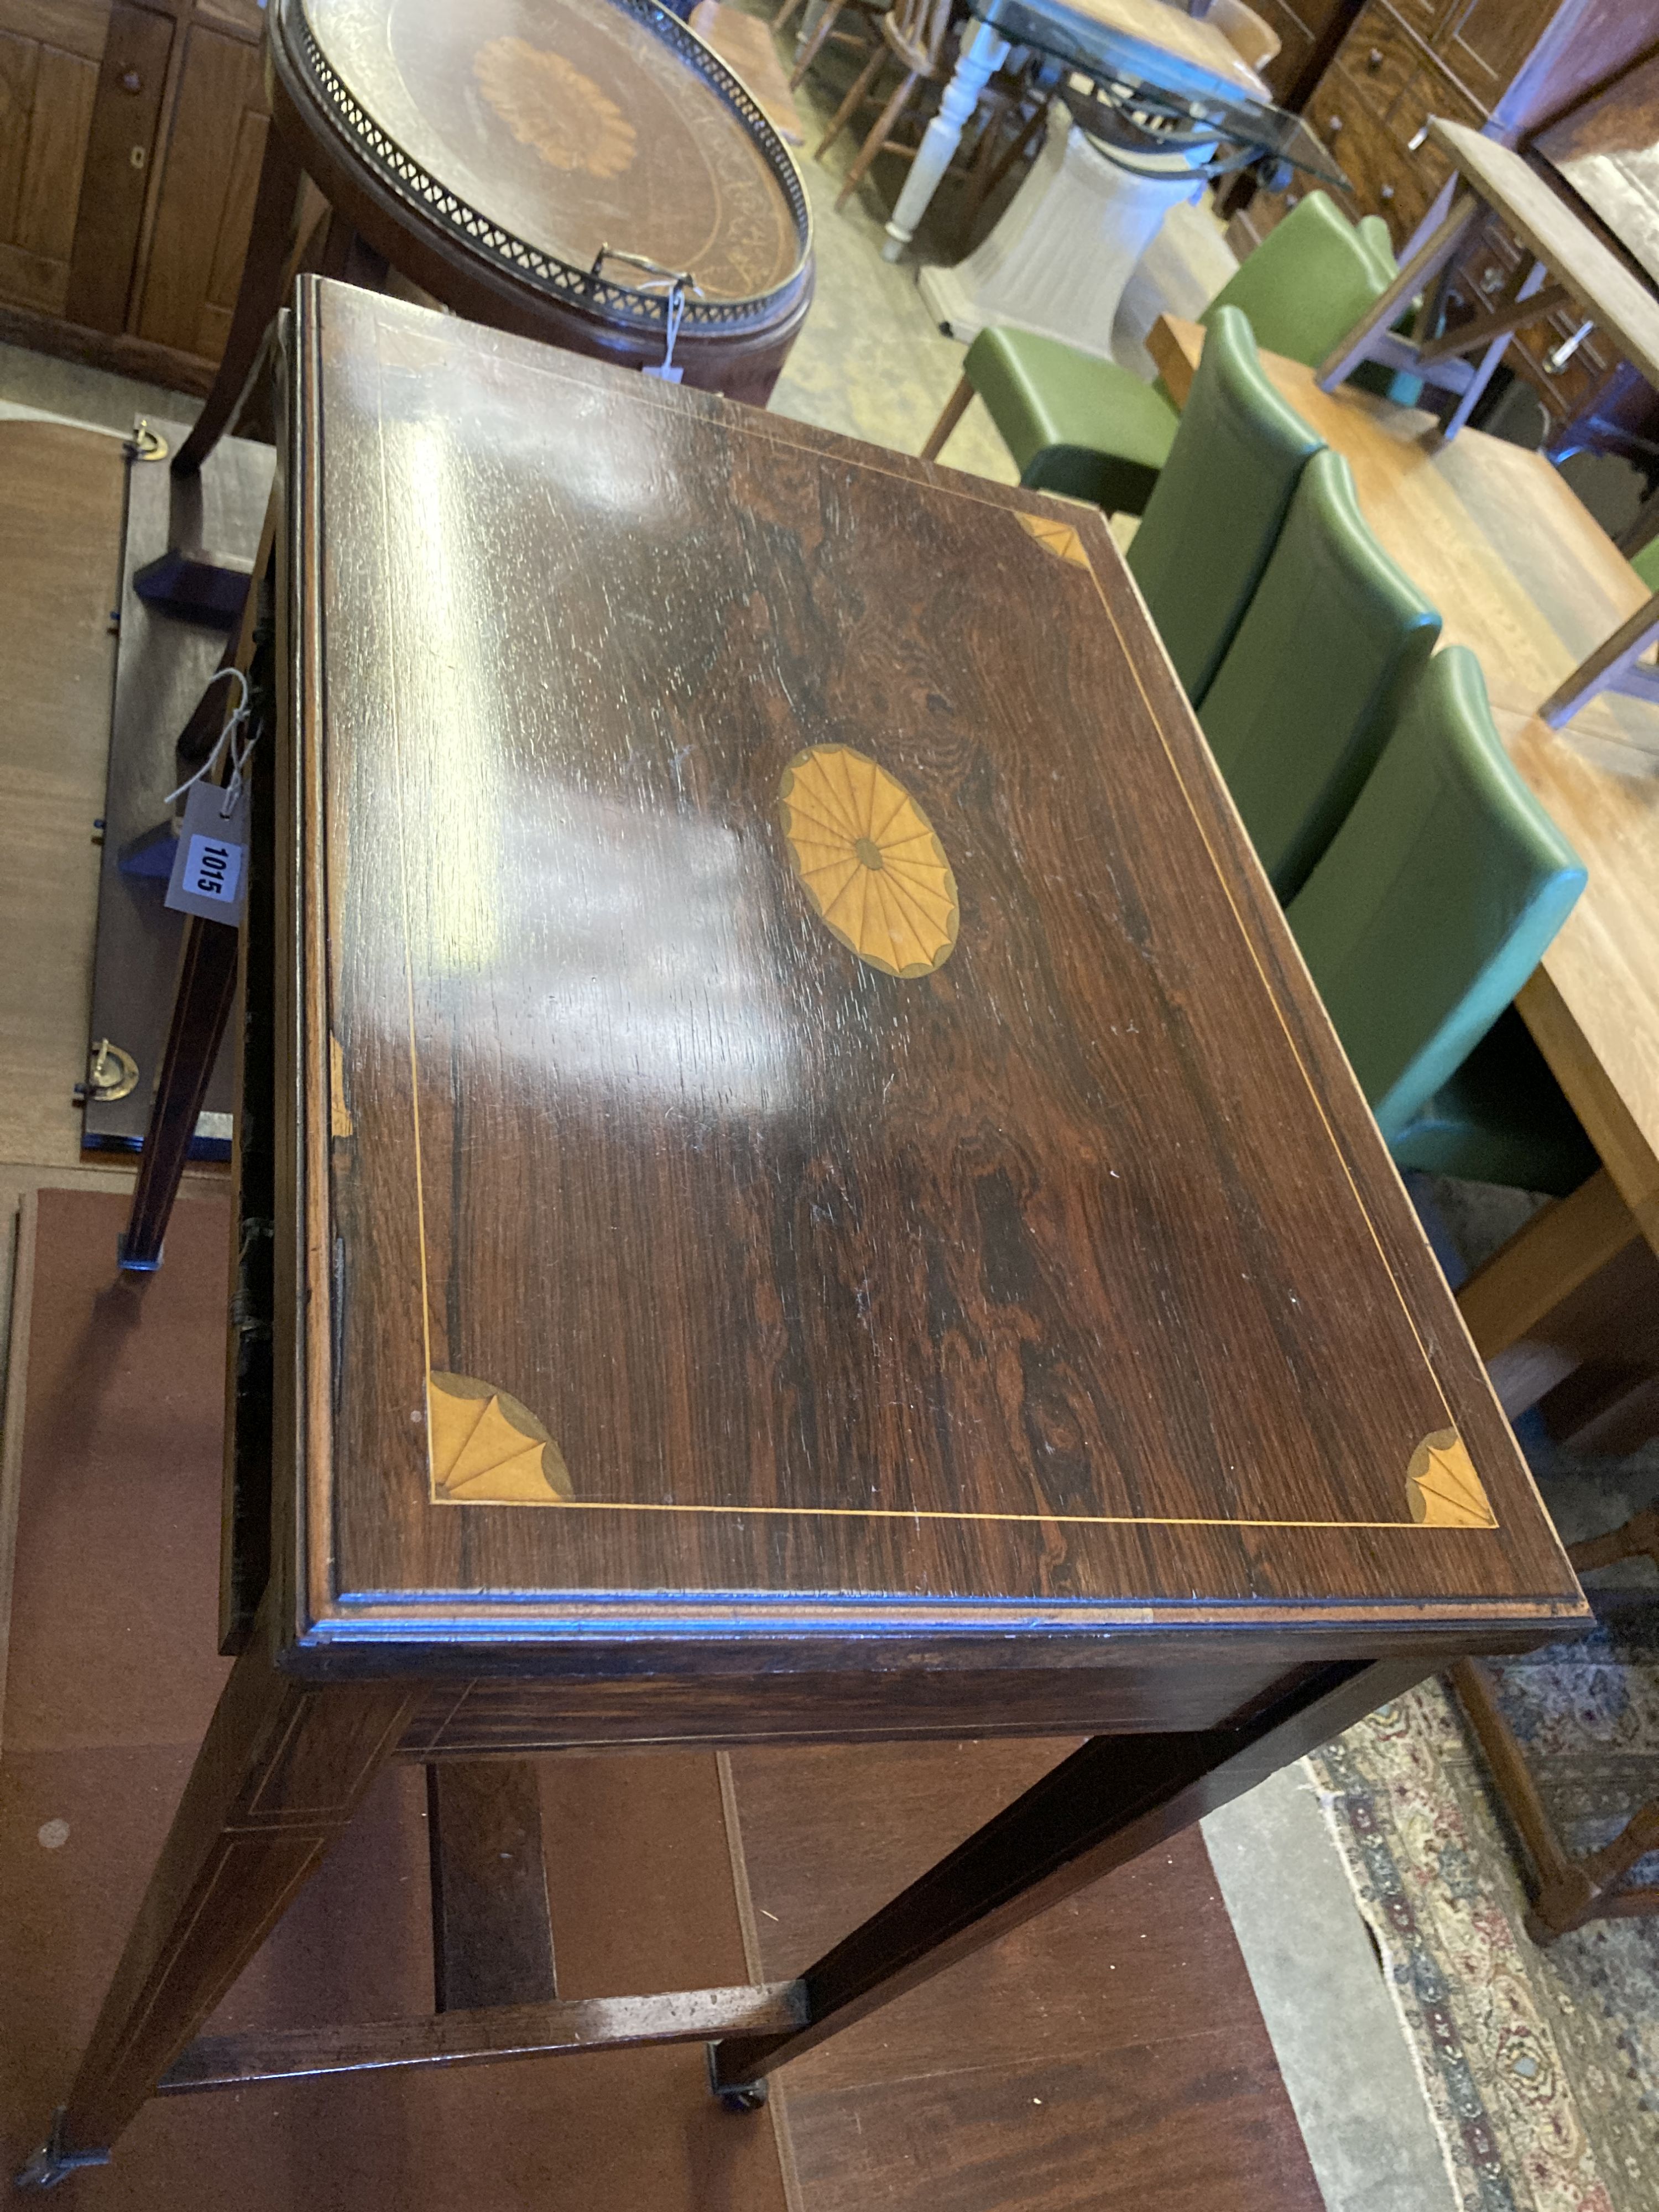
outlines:
[{"label": "pale wooden dining table including its leg, beside the green chairs", "polygon": [[[1166,316],[1148,338],[1186,403],[1203,330]],[[1630,1310],[1659,1310],[1659,703],[1601,692],[1564,728],[1542,706],[1648,591],[1562,473],[1276,354],[1263,367],[1343,453],[1365,520],[1469,646],[1511,759],[1588,869],[1588,885],[1517,1006],[1601,1155],[1601,1172],[1537,1212],[1460,1292],[1511,1411],[1537,1402]],[[1621,1431],[1659,1418],[1637,1371]],[[1606,1409],[1615,1418],[1613,1405]],[[1588,1418],[1588,1416],[1586,1416]],[[1599,1413],[1595,1416],[1601,1418]]]}]

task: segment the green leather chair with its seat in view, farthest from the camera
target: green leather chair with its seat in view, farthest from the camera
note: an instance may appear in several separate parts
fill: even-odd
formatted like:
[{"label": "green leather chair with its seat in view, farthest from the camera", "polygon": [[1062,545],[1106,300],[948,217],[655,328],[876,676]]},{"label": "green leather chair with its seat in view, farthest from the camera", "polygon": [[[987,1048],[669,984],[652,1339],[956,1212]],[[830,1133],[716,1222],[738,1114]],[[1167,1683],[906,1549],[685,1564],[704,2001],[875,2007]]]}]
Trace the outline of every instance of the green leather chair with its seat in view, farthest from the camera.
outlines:
[{"label": "green leather chair with its seat in view, farthest from the camera", "polygon": [[[1354,226],[1334,199],[1310,192],[1239,263],[1199,321],[1210,327],[1219,307],[1241,307],[1256,345],[1314,365],[1396,274],[1383,217]],[[982,330],[922,447],[925,460],[938,458],[975,392],[1022,484],[1095,500],[1113,515],[1146,509],[1179,422],[1161,383],[1141,383],[1115,361],[1029,330]]]}]

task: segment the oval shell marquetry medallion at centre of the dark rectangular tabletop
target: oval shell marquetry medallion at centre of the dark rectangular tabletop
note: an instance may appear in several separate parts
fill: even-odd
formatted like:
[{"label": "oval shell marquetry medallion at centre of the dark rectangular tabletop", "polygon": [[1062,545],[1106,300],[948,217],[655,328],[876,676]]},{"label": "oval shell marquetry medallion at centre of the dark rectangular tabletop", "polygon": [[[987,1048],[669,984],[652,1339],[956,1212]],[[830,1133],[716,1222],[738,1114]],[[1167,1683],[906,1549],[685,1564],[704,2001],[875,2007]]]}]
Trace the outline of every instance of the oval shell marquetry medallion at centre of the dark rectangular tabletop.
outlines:
[{"label": "oval shell marquetry medallion at centre of the dark rectangular tabletop", "polygon": [[852,745],[807,745],[779,783],[812,911],[883,975],[931,975],[956,947],[956,876],[905,785]]}]

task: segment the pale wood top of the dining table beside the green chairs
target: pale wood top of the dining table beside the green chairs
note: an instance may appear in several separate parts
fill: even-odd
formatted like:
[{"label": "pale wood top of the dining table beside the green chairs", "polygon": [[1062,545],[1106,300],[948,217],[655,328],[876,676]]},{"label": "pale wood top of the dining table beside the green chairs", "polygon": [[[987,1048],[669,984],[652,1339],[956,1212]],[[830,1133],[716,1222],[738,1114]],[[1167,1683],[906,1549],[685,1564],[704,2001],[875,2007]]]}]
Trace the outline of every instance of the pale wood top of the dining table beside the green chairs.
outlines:
[{"label": "pale wood top of the dining table beside the green chairs", "polygon": [[[1148,341],[1177,405],[1203,330]],[[1504,743],[1590,872],[1520,1006],[1626,1203],[1659,1245],[1659,708],[1604,692],[1566,730],[1537,706],[1648,602],[1641,577],[1542,458],[1356,392],[1263,367],[1354,469],[1360,511],[1469,646]]]}]

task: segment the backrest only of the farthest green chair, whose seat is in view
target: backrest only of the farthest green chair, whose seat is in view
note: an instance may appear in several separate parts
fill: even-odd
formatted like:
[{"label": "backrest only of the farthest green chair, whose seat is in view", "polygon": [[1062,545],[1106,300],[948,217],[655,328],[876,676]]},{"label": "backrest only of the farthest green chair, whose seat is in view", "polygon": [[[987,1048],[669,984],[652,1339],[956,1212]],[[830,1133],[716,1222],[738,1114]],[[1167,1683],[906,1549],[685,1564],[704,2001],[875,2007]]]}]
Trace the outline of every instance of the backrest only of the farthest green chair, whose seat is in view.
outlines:
[{"label": "backrest only of the farthest green chair, whose seat is in view", "polygon": [[1219,307],[1243,307],[1265,354],[1318,367],[1396,276],[1380,217],[1367,215],[1356,226],[1327,192],[1307,192],[1239,263],[1199,321],[1208,327]]}]

